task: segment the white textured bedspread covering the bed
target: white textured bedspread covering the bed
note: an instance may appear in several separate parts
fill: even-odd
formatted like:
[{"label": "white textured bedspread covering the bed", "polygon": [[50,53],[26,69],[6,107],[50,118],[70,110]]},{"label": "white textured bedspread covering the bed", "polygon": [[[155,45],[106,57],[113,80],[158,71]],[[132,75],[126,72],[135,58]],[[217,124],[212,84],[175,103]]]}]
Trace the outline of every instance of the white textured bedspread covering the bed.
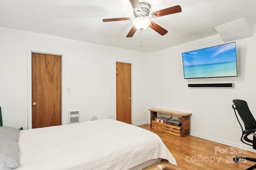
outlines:
[{"label": "white textured bedspread covering the bed", "polygon": [[126,170],[153,158],[176,160],[155,133],[100,119],[20,131],[18,170]]}]

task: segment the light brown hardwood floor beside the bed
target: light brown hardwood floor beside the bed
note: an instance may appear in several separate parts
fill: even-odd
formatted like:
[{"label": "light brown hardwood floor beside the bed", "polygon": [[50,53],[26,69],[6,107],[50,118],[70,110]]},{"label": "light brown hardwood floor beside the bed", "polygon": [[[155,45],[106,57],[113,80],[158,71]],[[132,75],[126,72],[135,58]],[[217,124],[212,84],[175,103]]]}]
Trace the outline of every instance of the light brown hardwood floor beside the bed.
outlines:
[{"label": "light brown hardwood floor beside the bed", "polygon": [[[176,137],[168,133],[150,128],[150,124],[138,127],[156,133],[177,161],[178,170],[245,170],[255,162],[240,160],[233,161],[234,156],[256,157],[255,152],[230,147],[198,137]],[[164,170],[176,170],[170,165]]]}]

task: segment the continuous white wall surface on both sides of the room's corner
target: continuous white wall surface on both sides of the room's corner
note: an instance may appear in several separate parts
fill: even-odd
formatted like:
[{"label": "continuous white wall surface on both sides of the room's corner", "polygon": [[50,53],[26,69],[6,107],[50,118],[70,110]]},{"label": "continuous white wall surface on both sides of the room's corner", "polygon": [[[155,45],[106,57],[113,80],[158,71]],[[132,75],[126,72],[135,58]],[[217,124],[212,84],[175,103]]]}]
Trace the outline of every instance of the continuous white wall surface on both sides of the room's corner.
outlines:
[{"label": "continuous white wall surface on both sides of the room's corner", "polygon": [[[219,35],[150,54],[0,27],[0,106],[3,123],[28,127],[28,48],[64,54],[63,124],[79,109],[81,121],[94,114],[115,117],[115,61],[133,63],[133,124],[150,121],[150,108],[191,112],[191,135],[243,146],[233,99],[248,102],[256,116],[256,25],[253,37],[236,41],[238,77],[184,79],[182,52],[224,42]],[[188,88],[197,83],[234,83],[233,88]],[[71,88],[71,93],[66,88]],[[250,150],[250,147],[246,149]]]}]

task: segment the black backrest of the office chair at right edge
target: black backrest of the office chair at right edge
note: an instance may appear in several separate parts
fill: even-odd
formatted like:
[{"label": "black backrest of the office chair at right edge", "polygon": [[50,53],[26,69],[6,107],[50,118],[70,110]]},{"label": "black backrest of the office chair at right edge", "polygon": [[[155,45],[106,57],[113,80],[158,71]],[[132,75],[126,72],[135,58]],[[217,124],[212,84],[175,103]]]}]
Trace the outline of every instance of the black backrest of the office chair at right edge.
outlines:
[{"label": "black backrest of the office chair at right edge", "polygon": [[242,121],[244,122],[244,126],[246,129],[255,129],[256,121],[247,105],[247,102],[244,100],[233,100],[234,105],[236,106],[236,110],[240,115]]}]

